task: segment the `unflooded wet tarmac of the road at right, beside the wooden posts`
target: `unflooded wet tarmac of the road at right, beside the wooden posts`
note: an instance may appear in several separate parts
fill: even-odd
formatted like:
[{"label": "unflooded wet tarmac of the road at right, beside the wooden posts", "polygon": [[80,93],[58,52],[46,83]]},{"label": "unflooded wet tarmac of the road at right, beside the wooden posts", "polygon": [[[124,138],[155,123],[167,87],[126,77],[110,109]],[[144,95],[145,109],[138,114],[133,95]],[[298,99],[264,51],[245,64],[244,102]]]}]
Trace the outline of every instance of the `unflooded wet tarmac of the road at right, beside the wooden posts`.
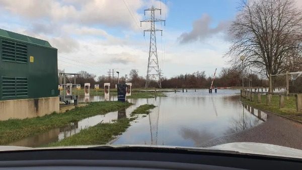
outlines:
[{"label": "unflooded wet tarmac of the road at right, beside the wooden posts", "polygon": [[271,113],[266,114],[267,121],[258,126],[217,137],[196,146],[210,147],[232,142],[257,142],[302,149],[302,124]]}]

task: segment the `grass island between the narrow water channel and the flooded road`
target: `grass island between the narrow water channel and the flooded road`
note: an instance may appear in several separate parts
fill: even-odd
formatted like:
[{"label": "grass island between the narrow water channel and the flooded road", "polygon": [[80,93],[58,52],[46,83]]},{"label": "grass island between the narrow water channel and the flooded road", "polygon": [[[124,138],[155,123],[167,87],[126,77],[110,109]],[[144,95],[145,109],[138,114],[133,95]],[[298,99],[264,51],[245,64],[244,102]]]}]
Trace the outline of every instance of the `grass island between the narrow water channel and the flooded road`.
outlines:
[{"label": "grass island between the narrow water channel and the flooded road", "polygon": [[100,145],[106,144],[121,135],[130,126],[135,118],[122,118],[114,123],[100,123],[81,132],[67,137],[59,142],[50,143],[46,146],[72,146],[72,145]]}]

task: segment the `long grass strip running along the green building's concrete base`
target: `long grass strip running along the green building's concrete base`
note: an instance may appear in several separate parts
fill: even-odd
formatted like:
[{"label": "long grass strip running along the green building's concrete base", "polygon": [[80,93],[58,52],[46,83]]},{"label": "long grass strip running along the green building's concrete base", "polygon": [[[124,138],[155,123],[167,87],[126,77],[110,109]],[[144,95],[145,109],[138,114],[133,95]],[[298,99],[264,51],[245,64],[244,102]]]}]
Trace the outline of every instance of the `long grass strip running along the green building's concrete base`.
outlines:
[{"label": "long grass strip running along the green building's concrete base", "polygon": [[0,121],[0,145],[7,144],[28,136],[37,135],[55,127],[63,127],[70,122],[118,111],[130,106],[128,102],[92,102],[85,107],[78,107],[65,113],[52,113],[43,117],[10,119]]}]

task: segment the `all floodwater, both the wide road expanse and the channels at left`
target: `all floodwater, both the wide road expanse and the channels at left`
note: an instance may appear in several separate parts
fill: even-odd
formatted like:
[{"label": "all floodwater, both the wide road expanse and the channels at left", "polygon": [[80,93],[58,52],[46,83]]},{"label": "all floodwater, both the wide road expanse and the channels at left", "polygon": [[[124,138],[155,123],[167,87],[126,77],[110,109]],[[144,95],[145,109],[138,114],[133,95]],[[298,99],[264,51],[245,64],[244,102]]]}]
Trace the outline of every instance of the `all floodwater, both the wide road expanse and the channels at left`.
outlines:
[{"label": "all floodwater, both the wide road expanse and the channels at left", "polygon": [[[111,143],[196,146],[216,137],[257,126],[267,120],[265,113],[243,105],[239,101],[238,93],[240,90],[218,90],[212,94],[208,90],[188,90],[185,93],[167,93],[168,97],[127,99],[134,103],[127,109],[86,118],[7,145],[43,146],[99,123],[129,118],[138,106],[154,104],[157,107],[149,115],[140,115],[126,132]],[[79,102],[104,100],[104,96],[81,97]],[[111,96],[110,100],[116,101],[116,97]]]}]

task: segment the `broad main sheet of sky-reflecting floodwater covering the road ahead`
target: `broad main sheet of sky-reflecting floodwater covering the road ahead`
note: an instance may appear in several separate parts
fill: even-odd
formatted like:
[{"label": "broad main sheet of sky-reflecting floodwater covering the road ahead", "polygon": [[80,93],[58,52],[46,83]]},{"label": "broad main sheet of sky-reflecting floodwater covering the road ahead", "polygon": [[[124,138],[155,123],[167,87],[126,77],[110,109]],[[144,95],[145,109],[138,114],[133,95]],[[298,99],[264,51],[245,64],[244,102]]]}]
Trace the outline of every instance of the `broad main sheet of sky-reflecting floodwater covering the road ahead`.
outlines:
[{"label": "broad main sheet of sky-reflecting floodwater covering the road ahead", "polygon": [[[128,128],[113,144],[196,146],[210,139],[257,126],[265,113],[244,106],[239,90],[188,90],[166,98],[139,99],[157,107]],[[138,100],[138,101],[139,101]]]}]

